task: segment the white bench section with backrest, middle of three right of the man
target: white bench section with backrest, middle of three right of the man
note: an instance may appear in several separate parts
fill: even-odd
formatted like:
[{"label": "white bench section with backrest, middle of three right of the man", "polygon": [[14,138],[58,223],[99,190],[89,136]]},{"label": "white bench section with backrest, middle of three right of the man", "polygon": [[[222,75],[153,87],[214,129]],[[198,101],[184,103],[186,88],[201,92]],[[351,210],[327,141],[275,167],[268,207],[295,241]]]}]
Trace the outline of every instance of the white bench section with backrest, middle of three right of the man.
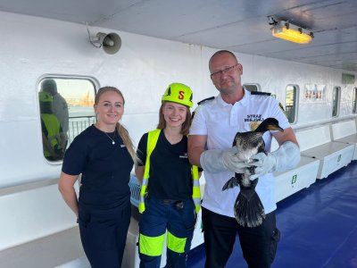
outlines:
[{"label": "white bench section with backrest, middle of three right of the man", "polygon": [[301,155],[320,160],[317,179],[324,179],[332,172],[351,163],[354,145],[332,141],[330,126],[295,131]]}]

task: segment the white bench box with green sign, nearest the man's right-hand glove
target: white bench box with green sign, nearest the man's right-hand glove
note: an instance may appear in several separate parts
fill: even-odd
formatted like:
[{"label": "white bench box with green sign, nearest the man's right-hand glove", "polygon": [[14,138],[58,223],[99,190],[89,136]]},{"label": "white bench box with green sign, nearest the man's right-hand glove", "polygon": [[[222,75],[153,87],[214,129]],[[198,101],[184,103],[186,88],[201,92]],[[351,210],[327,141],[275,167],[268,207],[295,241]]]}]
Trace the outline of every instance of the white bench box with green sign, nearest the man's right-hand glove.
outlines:
[{"label": "white bench box with green sign, nearest the man's right-hand glove", "polygon": [[[278,149],[278,142],[272,139],[271,151]],[[308,188],[316,181],[320,161],[307,156],[301,156],[298,165],[286,172],[274,172],[275,202],[289,197],[303,188]]]}]

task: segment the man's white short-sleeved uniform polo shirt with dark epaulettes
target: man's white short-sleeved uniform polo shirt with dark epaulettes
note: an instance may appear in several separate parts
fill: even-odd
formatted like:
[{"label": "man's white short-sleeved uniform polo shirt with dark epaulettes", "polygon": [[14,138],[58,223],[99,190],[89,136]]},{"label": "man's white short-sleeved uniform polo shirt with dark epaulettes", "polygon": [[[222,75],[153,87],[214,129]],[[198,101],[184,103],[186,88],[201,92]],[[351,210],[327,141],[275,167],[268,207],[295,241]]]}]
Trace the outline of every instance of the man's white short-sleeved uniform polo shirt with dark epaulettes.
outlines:
[{"label": "man's white short-sleeved uniform polo shirt with dark epaulettes", "polygon": [[[286,115],[272,96],[251,95],[245,90],[245,96],[235,105],[229,105],[221,96],[199,105],[195,110],[190,135],[207,136],[207,149],[227,150],[233,145],[237,132],[255,130],[261,121],[268,117],[276,118],[282,129],[290,127]],[[272,131],[276,132],[276,131]],[[271,133],[263,135],[266,151],[270,152]],[[204,172],[204,171],[203,171]],[[204,172],[206,180],[203,207],[217,214],[234,217],[234,204],[239,187],[222,191],[223,185],[234,176],[234,172]],[[277,208],[274,197],[275,180],[266,174],[259,178],[255,188],[264,205],[265,214]]]}]

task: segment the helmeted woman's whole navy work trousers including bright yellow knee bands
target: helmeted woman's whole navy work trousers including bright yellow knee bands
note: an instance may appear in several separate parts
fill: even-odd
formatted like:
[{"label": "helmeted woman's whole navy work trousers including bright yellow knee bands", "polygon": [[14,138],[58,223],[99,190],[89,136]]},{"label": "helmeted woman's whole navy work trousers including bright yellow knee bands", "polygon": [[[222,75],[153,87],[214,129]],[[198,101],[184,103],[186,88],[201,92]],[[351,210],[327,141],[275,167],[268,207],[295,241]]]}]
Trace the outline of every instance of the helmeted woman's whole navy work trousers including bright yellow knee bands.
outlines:
[{"label": "helmeted woman's whole navy work trousers including bright yellow knee bands", "polygon": [[[145,198],[145,212],[139,222],[140,267],[159,267],[167,230],[167,264],[185,267],[195,230],[195,205],[182,201]],[[177,266],[175,266],[177,265]]]}]

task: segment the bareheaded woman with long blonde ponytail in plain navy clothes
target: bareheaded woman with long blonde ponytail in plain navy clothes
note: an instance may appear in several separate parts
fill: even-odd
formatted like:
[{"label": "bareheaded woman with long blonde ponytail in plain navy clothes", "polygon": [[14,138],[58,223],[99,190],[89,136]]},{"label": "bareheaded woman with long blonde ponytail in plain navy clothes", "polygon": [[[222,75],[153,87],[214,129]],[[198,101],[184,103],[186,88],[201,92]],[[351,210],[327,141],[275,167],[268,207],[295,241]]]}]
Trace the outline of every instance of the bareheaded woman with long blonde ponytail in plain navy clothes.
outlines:
[{"label": "bareheaded woman with long blonde ponytail in plain navy clothes", "polygon": [[[129,229],[129,178],[137,155],[119,123],[124,103],[118,88],[100,88],[94,106],[97,121],[74,138],[62,164],[59,189],[78,218],[92,267],[121,266]],[[79,174],[78,199],[73,185]]]}]

